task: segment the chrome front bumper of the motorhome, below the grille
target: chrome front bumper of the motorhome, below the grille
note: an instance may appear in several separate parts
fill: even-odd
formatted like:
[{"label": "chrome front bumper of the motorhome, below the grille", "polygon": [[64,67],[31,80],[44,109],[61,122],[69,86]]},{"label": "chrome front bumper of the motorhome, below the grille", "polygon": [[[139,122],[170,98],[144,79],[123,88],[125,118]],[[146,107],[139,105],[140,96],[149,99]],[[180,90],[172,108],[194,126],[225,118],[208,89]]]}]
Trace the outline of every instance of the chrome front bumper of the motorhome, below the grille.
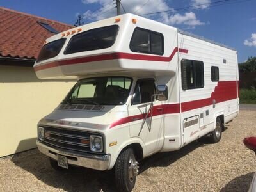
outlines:
[{"label": "chrome front bumper of the motorhome, below the grille", "polygon": [[66,152],[58,150],[44,145],[40,141],[36,141],[38,150],[43,154],[57,160],[57,154],[67,157],[68,164],[74,164],[77,166],[83,166],[86,168],[92,168],[94,170],[108,170],[110,155],[97,155],[97,154],[74,154],[72,152]]}]

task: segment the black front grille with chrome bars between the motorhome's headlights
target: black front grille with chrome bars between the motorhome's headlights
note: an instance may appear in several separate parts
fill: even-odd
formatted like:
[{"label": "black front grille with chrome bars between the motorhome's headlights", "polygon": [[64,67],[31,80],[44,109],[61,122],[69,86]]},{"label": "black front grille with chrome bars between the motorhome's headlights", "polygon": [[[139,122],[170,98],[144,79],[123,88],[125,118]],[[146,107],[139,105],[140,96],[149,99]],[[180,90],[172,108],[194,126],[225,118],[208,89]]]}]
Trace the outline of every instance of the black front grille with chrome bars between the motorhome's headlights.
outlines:
[{"label": "black front grille with chrome bars between the motorhome's headlights", "polygon": [[91,152],[90,135],[99,135],[92,132],[60,127],[40,127],[44,127],[45,130],[45,139],[43,141],[45,144],[77,152]]}]

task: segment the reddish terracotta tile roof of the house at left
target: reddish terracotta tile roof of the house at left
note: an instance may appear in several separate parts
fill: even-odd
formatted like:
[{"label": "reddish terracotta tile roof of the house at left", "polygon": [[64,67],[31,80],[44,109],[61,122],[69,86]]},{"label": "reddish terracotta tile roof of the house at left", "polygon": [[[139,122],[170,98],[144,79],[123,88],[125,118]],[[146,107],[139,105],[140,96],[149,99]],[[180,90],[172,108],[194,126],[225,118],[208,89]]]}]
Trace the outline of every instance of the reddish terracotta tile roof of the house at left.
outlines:
[{"label": "reddish terracotta tile roof of the house at left", "polygon": [[57,31],[74,26],[0,7],[0,56],[36,59],[46,38],[55,35],[37,22]]}]

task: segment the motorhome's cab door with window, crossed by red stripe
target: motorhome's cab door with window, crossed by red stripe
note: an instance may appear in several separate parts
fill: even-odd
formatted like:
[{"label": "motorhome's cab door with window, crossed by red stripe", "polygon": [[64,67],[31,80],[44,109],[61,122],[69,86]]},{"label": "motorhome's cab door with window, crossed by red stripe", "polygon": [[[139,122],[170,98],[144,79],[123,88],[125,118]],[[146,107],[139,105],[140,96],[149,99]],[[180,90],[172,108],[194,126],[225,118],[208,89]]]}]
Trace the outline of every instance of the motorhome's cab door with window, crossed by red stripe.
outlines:
[{"label": "motorhome's cab door with window, crossed by red stripe", "polygon": [[138,79],[128,106],[131,137],[140,137],[143,140],[147,155],[159,151],[164,141],[163,106],[156,99],[151,103],[154,94],[155,79]]}]

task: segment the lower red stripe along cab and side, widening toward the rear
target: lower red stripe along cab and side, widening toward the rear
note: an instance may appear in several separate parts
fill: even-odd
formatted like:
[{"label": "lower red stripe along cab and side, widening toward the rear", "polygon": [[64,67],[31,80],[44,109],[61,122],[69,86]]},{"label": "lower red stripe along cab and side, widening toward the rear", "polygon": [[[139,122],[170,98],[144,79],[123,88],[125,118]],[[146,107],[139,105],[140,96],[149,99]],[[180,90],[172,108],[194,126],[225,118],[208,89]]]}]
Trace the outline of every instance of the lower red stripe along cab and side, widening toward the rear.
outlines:
[{"label": "lower red stripe along cab and side, widening toward the rear", "polygon": [[[231,99],[237,98],[237,83],[239,81],[219,81],[217,86],[214,88],[214,92],[211,93],[211,97],[207,99],[192,100],[189,102],[181,103],[182,112],[190,111],[193,109],[203,108],[205,106],[211,106],[213,99],[216,100],[216,103],[224,102]],[[161,111],[159,109],[163,108]],[[153,106],[152,116],[165,115],[180,113],[180,104],[163,104],[158,106]],[[129,122],[136,120],[141,120],[145,118],[145,113],[134,116],[127,116],[117,120],[110,125],[110,128],[115,127],[121,124],[127,124]]]}]

